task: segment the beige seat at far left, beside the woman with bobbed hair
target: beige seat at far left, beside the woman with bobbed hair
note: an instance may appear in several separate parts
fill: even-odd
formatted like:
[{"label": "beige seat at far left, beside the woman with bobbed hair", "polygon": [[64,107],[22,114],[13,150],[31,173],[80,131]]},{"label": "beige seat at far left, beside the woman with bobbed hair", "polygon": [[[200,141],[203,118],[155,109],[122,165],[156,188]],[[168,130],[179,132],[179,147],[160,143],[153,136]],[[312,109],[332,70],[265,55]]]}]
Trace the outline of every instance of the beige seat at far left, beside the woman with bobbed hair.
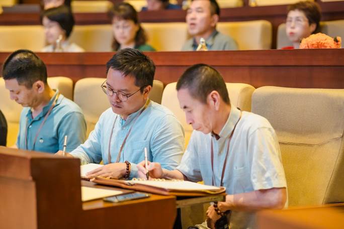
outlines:
[{"label": "beige seat at far left, beside the woman with bobbed hair", "polygon": [[40,51],[45,44],[42,26],[0,26],[0,52]]}]

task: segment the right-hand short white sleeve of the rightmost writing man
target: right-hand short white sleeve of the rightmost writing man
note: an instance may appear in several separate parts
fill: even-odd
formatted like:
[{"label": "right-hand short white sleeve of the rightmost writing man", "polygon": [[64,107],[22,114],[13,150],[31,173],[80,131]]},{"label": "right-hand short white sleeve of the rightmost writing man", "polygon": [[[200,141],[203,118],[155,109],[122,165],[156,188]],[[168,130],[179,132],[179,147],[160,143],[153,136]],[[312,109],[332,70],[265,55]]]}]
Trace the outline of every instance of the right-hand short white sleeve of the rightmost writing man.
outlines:
[{"label": "right-hand short white sleeve of the rightmost writing man", "polygon": [[274,129],[259,128],[248,138],[254,190],[287,187],[281,151]]}]

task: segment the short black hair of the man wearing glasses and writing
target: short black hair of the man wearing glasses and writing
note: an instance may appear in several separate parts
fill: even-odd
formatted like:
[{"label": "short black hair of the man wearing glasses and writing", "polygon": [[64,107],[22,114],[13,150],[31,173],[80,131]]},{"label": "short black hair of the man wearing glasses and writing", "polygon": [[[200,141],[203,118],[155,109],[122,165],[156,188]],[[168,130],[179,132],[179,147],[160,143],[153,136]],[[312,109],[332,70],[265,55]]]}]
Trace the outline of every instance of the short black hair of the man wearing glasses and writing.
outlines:
[{"label": "short black hair of the man wearing glasses and writing", "polygon": [[153,86],[155,65],[140,50],[126,48],[118,51],[106,64],[106,74],[110,68],[134,77],[135,85],[141,88],[141,93],[144,86]]}]

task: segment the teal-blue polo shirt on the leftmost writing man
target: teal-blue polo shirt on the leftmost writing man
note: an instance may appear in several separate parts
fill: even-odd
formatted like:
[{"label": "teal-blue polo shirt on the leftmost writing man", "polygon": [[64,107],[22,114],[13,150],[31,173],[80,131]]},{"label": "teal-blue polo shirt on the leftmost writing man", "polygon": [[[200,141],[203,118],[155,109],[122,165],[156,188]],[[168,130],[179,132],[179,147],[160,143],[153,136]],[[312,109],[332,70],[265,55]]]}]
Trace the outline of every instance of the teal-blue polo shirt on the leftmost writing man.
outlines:
[{"label": "teal-blue polo shirt on the leftmost writing man", "polygon": [[81,108],[76,103],[60,94],[55,106],[39,132],[34,145],[36,133],[51,104],[55,100],[57,93],[58,90],[56,90],[49,103],[43,107],[42,112],[34,119],[32,118],[31,107],[23,108],[19,122],[19,134],[17,139],[18,149],[26,149],[26,131],[28,134],[28,150],[56,153],[59,150],[63,150],[65,135],[68,136],[66,152],[74,150],[84,142],[86,138],[86,122]]}]

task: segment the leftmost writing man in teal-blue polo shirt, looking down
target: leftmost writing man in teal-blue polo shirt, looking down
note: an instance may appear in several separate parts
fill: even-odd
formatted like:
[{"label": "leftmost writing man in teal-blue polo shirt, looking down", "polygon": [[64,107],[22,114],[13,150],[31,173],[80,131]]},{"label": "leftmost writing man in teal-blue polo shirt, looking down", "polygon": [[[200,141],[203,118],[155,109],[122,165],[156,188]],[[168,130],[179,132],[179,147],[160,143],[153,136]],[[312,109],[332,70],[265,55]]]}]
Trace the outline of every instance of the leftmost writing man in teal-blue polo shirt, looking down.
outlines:
[{"label": "leftmost writing man in teal-blue polo shirt, looking down", "polygon": [[11,99],[24,106],[20,116],[18,149],[56,153],[72,151],[86,137],[80,107],[47,83],[47,69],[32,51],[17,50],[5,61],[3,77]]}]

